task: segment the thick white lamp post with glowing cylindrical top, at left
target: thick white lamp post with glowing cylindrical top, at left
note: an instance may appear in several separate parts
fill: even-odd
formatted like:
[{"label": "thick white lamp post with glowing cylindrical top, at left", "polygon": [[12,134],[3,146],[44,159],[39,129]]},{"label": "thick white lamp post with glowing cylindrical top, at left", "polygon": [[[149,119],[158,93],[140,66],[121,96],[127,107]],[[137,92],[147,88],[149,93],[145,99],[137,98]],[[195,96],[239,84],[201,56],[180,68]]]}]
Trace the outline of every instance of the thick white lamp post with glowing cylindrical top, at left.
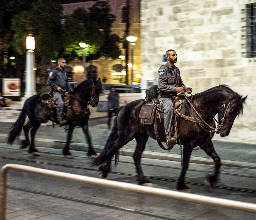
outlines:
[{"label": "thick white lamp post with glowing cylindrical top, at left", "polygon": [[31,34],[27,36],[26,42],[26,71],[25,71],[25,93],[23,100],[25,101],[30,96],[36,95],[36,82],[35,82],[35,38]]}]

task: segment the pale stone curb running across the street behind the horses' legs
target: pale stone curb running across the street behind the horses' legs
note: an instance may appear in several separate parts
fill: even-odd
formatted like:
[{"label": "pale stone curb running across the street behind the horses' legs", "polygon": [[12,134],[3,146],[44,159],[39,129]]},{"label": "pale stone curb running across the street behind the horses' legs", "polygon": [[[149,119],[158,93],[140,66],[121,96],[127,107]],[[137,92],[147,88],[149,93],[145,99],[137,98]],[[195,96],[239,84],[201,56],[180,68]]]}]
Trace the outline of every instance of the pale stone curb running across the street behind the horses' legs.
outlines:
[{"label": "pale stone curb running across the street behind the horses' legs", "polygon": [[[8,135],[0,134],[0,142],[7,143],[7,137]],[[19,145],[20,139],[24,139],[24,138],[25,137],[23,136],[16,138],[13,144]],[[35,138],[35,143],[37,147],[47,147],[47,148],[54,148],[54,149],[63,149],[63,147],[65,146],[65,142],[61,142],[59,140],[44,139],[44,138]],[[94,144],[93,146],[96,153],[98,154],[101,153],[102,149],[104,148],[104,146],[96,145],[96,144]],[[88,146],[86,143],[84,144],[84,143],[73,142],[73,143],[70,143],[69,149],[73,151],[87,152]],[[119,155],[132,157],[133,153],[134,153],[133,149],[121,148]],[[153,152],[153,151],[144,151],[141,157],[149,158],[149,159],[181,162],[180,155],[178,154],[166,154],[166,153]],[[190,157],[190,163],[203,164],[203,165],[215,165],[214,161],[211,158],[194,157],[194,156]],[[232,161],[232,160],[221,160],[221,166],[256,169],[256,163],[247,163],[247,162]]]}]

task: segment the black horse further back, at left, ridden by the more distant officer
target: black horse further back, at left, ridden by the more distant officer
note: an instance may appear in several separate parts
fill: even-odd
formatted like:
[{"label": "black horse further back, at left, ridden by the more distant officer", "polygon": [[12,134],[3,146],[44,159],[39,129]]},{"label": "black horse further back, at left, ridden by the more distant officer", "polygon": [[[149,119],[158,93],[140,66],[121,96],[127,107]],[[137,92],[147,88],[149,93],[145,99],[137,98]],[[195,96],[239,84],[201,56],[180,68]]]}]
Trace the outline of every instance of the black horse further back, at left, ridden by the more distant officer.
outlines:
[{"label": "black horse further back, at left, ridden by the more distant officer", "polygon": [[[89,146],[87,155],[90,157],[97,155],[94,151],[94,147],[91,144],[90,133],[88,132],[88,120],[90,115],[88,105],[90,104],[92,107],[96,107],[98,105],[101,89],[102,86],[100,79],[87,79],[74,88],[74,91],[69,92],[69,107],[67,107],[65,110],[65,119],[67,120],[68,124],[68,135],[67,144],[63,149],[63,155],[65,155],[67,158],[72,158],[72,155],[69,152],[69,143],[72,138],[74,127],[76,126],[80,126],[87,137]],[[26,115],[28,116],[29,121],[23,126]],[[51,109],[46,103],[42,102],[40,95],[31,96],[25,101],[19,118],[13,124],[10,130],[8,143],[13,143],[16,136],[20,134],[21,129],[23,128],[26,139],[21,141],[20,148],[26,148],[30,145],[29,153],[39,155],[34,145],[35,134],[40,124],[45,123],[48,120],[56,120],[55,111],[53,111],[52,115]],[[31,143],[29,142],[30,129]]]}]

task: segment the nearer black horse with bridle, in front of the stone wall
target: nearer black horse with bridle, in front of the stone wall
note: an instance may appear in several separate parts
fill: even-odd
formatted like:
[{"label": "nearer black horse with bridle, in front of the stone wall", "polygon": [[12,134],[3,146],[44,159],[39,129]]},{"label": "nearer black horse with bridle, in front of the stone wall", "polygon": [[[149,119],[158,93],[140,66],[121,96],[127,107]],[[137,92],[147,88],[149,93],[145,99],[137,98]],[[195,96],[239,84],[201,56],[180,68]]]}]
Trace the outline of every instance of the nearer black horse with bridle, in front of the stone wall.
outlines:
[{"label": "nearer black horse with bridle, in front of the stone wall", "polygon": [[[214,160],[215,174],[207,179],[210,186],[216,183],[221,159],[215,152],[211,139],[215,131],[220,133],[221,137],[229,135],[236,116],[243,112],[243,104],[246,98],[247,96],[242,98],[242,96],[232,91],[226,85],[220,85],[188,97],[188,100],[198,114],[186,101],[186,115],[194,118],[194,122],[176,116],[180,144],[183,145],[183,166],[177,184],[178,190],[190,192],[189,187],[185,184],[185,173],[188,168],[191,152],[197,146]],[[103,151],[98,157],[93,159],[93,165],[100,166],[100,178],[106,178],[108,172],[110,172],[113,155],[115,155],[115,163],[117,163],[118,150],[135,138],[137,146],[133,154],[133,160],[138,174],[137,181],[140,185],[152,186],[152,183],[144,177],[140,165],[141,154],[145,149],[148,138],[156,139],[154,124],[142,125],[139,119],[141,106],[145,102],[143,99],[133,101],[119,109],[115,125]],[[216,128],[213,118],[217,113],[219,115],[219,125]],[[199,123],[199,121],[202,122],[202,119],[205,122],[203,124]],[[163,120],[162,122],[158,120],[157,130],[160,140],[165,142]],[[177,140],[178,143],[179,138]]]}]

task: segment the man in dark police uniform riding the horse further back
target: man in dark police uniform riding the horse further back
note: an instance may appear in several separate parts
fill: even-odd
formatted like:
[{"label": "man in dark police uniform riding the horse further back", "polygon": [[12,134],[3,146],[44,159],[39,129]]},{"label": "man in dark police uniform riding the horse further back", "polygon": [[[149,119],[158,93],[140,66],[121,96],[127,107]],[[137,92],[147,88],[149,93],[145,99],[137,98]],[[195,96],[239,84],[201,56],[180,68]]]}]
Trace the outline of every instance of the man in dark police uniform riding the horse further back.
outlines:
[{"label": "man in dark police uniform riding the horse further back", "polygon": [[63,58],[58,59],[58,66],[49,73],[47,79],[47,85],[51,87],[53,94],[53,101],[56,104],[57,124],[61,127],[67,124],[66,120],[63,120],[62,111],[64,107],[64,101],[62,94],[66,91],[73,91],[64,68],[66,67],[66,60]]}]

